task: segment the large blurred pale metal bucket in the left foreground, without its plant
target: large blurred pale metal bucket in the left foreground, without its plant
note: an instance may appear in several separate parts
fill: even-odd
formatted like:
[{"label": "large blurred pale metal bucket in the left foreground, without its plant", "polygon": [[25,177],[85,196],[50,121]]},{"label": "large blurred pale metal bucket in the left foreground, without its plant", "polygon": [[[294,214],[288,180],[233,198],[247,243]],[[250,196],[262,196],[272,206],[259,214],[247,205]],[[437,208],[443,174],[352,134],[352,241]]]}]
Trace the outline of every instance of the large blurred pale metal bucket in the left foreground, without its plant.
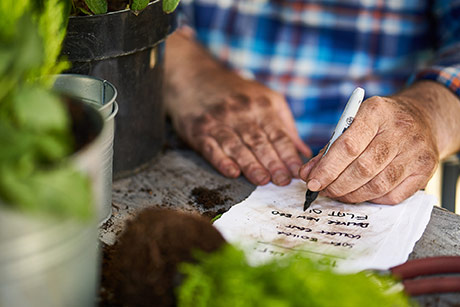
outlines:
[{"label": "large blurred pale metal bucket in the left foreground, without its plant", "polygon": [[[101,199],[100,153],[104,122],[83,104],[96,138],[69,158],[91,178]],[[95,218],[89,221],[28,215],[0,201],[0,306],[94,306],[100,253]]]}]

